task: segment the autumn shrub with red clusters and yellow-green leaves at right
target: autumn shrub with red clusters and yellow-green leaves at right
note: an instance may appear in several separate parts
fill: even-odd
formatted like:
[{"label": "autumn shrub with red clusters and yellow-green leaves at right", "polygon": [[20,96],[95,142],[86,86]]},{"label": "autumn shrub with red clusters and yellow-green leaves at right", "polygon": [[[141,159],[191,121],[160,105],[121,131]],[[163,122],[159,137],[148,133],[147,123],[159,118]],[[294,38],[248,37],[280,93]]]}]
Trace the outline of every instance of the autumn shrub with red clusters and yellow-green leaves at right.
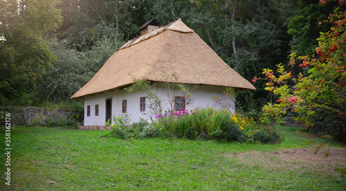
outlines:
[{"label": "autumn shrub with red clusters and yellow-green leaves at right", "polygon": [[[323,6],[328,2],[320,3]],[[344,1],[339,3],[343,5]],[[268,80],[265,89],[278,98],[262,108],[264,122],[283,122],[289,114],[304,122],[307,128],[327,124],[337,134],[345,134],[346,12],[336,9],[322,24],[332,24],[332,27],[327,33],[321,33],[315,55],[292,53],[287,66],[278,64],[276,71],[263,70]]]}]

